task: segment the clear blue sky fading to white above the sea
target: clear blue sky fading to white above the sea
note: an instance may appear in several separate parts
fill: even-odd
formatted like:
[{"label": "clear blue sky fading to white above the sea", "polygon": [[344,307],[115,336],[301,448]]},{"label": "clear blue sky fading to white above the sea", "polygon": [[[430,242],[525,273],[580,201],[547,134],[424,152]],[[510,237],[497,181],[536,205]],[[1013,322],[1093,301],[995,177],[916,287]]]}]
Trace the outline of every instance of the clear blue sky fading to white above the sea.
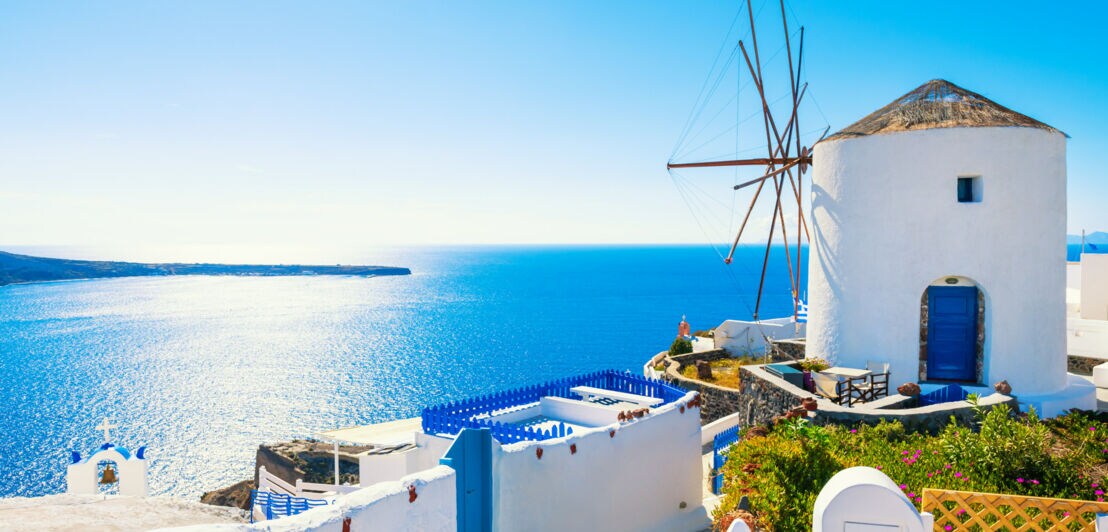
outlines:
[{"label": "clear blue sky fading to white above the sea", "polygon": [[[762,3],[769,55],[780,19]],[[812,127],[838,130],[948,79],[1070,134],[1070,232],[1108,229],[1105,4],[793,0],[789,10],[793,29],[807,28]],[[718,227],[701,229],[664,165],[737,11],[6,2],[0,244],[722,239],[733,222],[722,206],[747,201],[727,191],[736,176],[684,174],[707,196],[719,191],[719,205],[700,207],[721,211]],[[771,63],[768,76],[784,68]],[[725,83],[719,98],[735,93]],[[755,133],[720,142],[733,151]]]}]

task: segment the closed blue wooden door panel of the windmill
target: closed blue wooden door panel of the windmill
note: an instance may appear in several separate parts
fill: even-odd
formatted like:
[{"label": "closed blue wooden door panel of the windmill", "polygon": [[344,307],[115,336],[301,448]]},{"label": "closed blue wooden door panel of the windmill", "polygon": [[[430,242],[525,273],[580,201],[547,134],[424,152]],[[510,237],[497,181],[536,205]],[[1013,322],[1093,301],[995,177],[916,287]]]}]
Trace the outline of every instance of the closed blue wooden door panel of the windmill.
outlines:
[{"label": "closed blue wooden door panel of the windmill", "polygon": [[977,288],[927,288],[927,379],[977,380]]}]

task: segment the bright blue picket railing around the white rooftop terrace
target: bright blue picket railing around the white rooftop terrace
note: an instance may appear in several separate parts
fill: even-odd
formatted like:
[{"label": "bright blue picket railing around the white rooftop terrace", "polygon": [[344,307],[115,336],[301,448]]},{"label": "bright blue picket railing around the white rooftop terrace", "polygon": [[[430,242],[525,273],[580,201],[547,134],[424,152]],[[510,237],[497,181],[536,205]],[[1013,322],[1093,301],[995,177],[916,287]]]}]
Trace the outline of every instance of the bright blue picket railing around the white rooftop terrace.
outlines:
[{"label": "bright blue picket railing around the white rooftop terrace", "polygon": [[546,430],[535,427],[523,427],[513,423],[502,423],[484,418],[499,410],[522,407],[537,402],[543,397],[562,397],[576,399],[577,395],[570,391],[576,386],[591,386],[612,391],[623,391],[636,396],[661,399],[660,405],[674,402],[685,397],[686,391],[661,380],[648,379],[630,371],[607,369],[577,377],[533,385],[514,390],[489,393],[485,396],[448,402],[423,409],[423,432],[456,434],[462,429],[488,428],[493,438],[501,443],[512,443],[525,440],[546,440],[572,433],[573,430],[558,423]]}]

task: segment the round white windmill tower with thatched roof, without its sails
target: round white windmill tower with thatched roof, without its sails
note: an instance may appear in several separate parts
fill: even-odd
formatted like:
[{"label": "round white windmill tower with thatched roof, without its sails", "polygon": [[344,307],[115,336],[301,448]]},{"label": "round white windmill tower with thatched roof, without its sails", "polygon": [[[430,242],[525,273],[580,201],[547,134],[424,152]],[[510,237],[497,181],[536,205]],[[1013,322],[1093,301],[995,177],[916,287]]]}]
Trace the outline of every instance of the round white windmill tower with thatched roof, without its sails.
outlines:
[{"label": "round white windmill tower with thatched roof, without its sails", "polygon": [[1066,372],[1064,133],[935,80],[818,143],[813,168],[809,357],[1095,406]]}]

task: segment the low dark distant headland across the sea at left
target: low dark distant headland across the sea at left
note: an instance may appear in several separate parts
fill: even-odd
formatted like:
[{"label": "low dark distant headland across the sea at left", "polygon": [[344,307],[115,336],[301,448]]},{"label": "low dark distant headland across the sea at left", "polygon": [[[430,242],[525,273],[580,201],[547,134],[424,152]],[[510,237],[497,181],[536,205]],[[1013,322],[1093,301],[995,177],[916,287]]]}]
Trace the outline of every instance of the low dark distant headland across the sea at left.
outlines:
[{"label": "low dark distant headland across the sea at left", "polygon": [[112,277],[158,277],[170,275],[411,275],[394,266],[348,265],[252,265],[187,263],[121,263],[114,260],[71,260],[0,252],[0,286],[51,280],[102,279]]}]

